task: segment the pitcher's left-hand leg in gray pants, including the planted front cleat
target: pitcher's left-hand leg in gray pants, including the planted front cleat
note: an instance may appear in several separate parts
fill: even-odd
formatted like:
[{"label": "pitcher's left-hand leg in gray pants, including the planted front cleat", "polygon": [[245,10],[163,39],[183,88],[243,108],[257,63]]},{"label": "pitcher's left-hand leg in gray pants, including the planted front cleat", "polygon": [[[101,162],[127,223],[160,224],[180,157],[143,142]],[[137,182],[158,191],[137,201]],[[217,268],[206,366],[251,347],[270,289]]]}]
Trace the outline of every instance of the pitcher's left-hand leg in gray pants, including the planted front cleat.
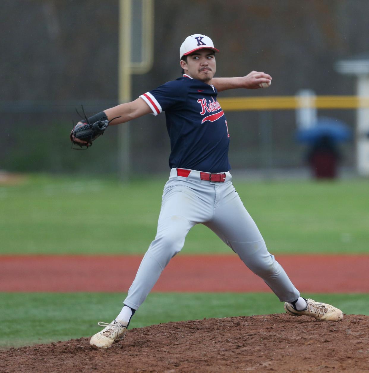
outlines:
[{"label": "pitcher's left-hand leg in gray pants, including the planted front cleat", "polygon": [[170,259],[182,249],[189,230],[196,223],[210,219],[214,196],[206,196],[198,184],[191,178],[177,177],[172,170],[164,187],[155,239],[141,261],[122,311],[113,322],[92,336],[90,344],[93,348],[108,348],[114,341],[124,338],[134,311],[146,299]]}]

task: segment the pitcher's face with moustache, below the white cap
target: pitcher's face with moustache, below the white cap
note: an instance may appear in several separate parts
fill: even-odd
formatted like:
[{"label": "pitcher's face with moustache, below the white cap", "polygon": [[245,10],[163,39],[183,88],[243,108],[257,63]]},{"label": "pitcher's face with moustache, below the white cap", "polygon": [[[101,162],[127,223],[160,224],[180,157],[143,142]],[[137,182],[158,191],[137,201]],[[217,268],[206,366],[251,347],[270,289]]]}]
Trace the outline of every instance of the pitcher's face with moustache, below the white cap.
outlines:
[{"label": "pitcher's face with moustache, below the white cap", "polygon": [[187,56],[187,63],[181,61],[181,67],[191,78],[207,83],[211,81],[217,70],[214,52],[209,49],[197,50]]}]

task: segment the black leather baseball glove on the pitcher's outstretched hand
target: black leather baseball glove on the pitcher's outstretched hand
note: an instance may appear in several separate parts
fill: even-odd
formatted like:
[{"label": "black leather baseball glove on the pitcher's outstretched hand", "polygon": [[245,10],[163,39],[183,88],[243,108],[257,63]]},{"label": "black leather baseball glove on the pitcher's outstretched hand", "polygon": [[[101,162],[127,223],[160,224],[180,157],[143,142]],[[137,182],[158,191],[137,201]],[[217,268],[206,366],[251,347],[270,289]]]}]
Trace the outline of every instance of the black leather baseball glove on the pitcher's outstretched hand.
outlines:
[{"label": "black leather baseball glove on the pitcher's outstretched hand", "polygon": [[108,125],[107,119],[100,119],[92,124],[87,121],[78,122],[70,132],[70,141],[81,148],[83,146],[88,148],[92,145],[92,141],[104,133]]}]

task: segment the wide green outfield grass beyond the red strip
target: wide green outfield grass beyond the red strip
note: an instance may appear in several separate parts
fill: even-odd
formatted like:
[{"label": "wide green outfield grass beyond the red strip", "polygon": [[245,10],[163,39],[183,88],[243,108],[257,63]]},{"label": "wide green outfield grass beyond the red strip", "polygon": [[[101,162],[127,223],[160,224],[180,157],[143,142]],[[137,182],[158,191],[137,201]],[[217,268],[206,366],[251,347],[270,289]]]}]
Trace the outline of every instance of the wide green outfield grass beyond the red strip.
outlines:
[{"label": "wide green outfield grass beyond the red strip", "polygon": [[[154,239],[165,179],[122,185],[31,176],[1,186],[0,254],[143,254]],[[234,181],[272,253],[368,253],[369,181]],[[202,225],[184,254],[229,253]]]}]

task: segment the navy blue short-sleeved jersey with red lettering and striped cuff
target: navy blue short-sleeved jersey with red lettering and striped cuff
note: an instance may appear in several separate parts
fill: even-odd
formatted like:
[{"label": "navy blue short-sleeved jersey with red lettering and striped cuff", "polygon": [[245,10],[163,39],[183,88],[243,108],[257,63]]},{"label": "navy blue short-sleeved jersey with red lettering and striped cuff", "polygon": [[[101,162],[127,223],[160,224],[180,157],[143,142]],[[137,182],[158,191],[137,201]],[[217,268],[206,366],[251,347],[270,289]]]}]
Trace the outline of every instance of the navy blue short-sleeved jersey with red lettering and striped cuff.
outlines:
[{"label": "navy blue short-sleeved jersey with red lettering and striped cuff", "polygon": [[229,135],[213,85],[184,74],[140,97],[154,115],[165,111],[170,137],[170,168],[226,172]]}]

